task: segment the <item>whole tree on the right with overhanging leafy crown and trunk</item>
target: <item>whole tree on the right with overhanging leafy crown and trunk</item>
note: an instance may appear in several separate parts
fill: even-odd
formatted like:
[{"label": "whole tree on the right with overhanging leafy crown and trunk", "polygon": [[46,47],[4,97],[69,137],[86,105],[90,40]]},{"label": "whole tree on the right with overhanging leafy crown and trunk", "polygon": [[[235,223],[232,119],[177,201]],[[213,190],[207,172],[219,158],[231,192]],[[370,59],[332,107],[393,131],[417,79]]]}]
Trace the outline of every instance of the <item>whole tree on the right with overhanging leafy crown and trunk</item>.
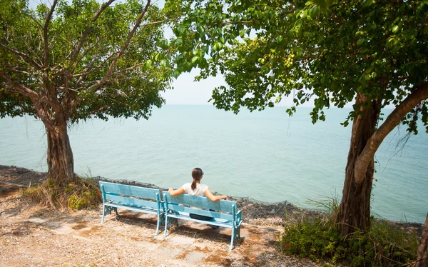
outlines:
[{"label": "whole tree on the right with overhanging leafy crown and trunk", "polygon": [[[428,4],[315,2],[188,1],[195,9],[175,34],[192,47],[180,59],[202,69],[198,79],[225,76],[228,86],[213,90],[218,109],[261,110],[293,96],[295,106],[313,99],[315,123],[331,104],[353,103],[343,122],[352,121],[352,136],[337,215],[347,235],[370,226],[373,158],[385,136],[399,124],[416,134],[421,116],[428,125]],[[394,110],[384,116],[387,106]]]}]

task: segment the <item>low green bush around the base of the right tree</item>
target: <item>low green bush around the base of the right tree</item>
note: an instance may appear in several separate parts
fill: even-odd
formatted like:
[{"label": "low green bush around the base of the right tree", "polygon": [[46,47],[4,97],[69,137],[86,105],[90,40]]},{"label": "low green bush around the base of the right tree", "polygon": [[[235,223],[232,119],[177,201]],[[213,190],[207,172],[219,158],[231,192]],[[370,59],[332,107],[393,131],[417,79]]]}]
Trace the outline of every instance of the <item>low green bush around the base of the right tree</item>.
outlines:
[{"label": "low green bush around the base of the right tree", "polygon": [[370,231],[347,238],[330,220],[306,221],[286,226],[280,243],[287,255],[350,266],[403,266],[417,258],[416,233],[378,220],[372,221]]}]

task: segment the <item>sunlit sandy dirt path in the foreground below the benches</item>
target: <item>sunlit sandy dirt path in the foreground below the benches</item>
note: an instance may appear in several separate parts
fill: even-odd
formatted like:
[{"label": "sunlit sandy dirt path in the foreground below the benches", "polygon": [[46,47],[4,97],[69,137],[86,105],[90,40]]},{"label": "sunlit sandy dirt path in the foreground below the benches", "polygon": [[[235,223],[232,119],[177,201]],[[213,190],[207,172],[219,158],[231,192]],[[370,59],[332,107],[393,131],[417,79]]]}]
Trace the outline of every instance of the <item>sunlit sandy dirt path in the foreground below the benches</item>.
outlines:
[{"label": "sunlit sandy dirt path in the foreground below the benches", "polygon": [[230,229],[180,221],[164,238],[154,236],[156,216],[122,211],[100,225],[101,206],[51,213],[25,203],[16,191],[2,192],[4,266],[317,266],[277,253],[281,227],[245,223],[243,240],[229,251]]}]

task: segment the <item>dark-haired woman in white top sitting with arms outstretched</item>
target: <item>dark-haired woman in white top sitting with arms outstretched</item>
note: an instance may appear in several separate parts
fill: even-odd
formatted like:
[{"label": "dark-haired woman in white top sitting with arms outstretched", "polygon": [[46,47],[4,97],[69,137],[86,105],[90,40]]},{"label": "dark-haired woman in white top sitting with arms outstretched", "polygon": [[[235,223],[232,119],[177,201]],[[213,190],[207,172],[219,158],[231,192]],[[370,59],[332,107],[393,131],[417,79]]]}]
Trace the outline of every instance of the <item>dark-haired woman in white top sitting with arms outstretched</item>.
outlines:
[{"label": "dark-haired woman in white top sitting with arms outstretched", "polygon": [[[210,188],[207,185],[200,183],[200,179],[203,178],[203,171],[200,168],[193,168],[192,170],[192,183],[185,183],[183,186],[178,188],[177,190],[173,190],[173,188],[168,189],[168,193],[171,196],[178,196],[182,193],[187,193],[191,196],[206,196],[210,201],[219,201],[220,199],[228,199],[228,196],[214,196],[211,193]],[[212,218],[208,216],[201,216],[197,214],[190,213],[191,218],[196,218],[204,221],[210,221]]]}]

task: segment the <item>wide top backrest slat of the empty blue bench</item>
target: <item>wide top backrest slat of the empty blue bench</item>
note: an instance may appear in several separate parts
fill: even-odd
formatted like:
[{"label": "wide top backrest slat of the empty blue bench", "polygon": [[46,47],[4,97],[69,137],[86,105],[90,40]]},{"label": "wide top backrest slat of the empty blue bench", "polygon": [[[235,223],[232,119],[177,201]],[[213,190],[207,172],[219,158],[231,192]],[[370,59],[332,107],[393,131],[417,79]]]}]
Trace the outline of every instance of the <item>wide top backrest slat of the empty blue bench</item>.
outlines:
[{"label": "wide top backrest slat of the empty blue bench", "polygon": [[140,186],[128,186],[120,183],[99,182],[100,187],[103,186],[106,193],[116,193],[126,196],[138,196],[141,198],[151,198],[156,200],[156,193],[161,198],[161,191],[155,188],[145,188]]}]

